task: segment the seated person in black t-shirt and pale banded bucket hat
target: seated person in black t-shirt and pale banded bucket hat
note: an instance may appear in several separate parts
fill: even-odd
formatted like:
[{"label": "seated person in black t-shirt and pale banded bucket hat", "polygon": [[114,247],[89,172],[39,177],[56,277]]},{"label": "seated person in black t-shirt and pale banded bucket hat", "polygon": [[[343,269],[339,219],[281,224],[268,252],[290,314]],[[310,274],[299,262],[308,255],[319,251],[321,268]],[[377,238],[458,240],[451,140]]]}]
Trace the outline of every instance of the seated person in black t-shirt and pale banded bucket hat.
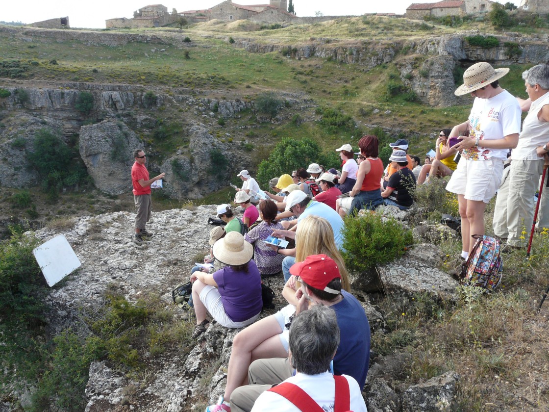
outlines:
[{"label": "seated person in black t-shirt and pale banded bucket hat", "polygon": [[394,151],[389,160],[395,162],[399,170],[390,177],[386,189],[381,194],[383,204],[408,210],[413,203],[412,193],[416,188],[416,177],[408,169],[406,152]]}]

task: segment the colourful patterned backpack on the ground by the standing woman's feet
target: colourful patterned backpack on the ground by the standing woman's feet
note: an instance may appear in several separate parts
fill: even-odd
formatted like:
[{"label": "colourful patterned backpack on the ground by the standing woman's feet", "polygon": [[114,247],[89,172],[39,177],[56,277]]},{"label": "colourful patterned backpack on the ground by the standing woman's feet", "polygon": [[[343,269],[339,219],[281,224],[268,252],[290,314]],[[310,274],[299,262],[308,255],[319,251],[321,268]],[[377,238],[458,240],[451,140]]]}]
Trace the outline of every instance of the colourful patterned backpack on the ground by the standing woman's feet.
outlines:
[{"label": "colourful patterned backpack on the ground by the standing woman's feet", "polygon": [[477,241],[463,265],[461,282],[493,292],[501,283],[503,264],[500,256],[500,241],[485,235],[472,237]]}]

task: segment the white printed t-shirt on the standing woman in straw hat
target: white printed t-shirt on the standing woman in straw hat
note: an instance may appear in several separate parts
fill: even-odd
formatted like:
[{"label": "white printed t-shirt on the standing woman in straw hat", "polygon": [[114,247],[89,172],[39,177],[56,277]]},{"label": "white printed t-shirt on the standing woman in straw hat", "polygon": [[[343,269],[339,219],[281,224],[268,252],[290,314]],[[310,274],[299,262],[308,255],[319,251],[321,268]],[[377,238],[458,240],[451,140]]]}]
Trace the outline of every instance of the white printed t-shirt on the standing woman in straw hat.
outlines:
[{"label": "white printed t-shirt on the standing woman in straw hat", "polygon": [[[483,140],[497,140],[520,133],[520,106],[507,90],[490,99],[475,97],[469,114],[469,136]],[[489,149],[473,146],[464,149],[462,157],[468,160],[507,159],[509,149]]]}]

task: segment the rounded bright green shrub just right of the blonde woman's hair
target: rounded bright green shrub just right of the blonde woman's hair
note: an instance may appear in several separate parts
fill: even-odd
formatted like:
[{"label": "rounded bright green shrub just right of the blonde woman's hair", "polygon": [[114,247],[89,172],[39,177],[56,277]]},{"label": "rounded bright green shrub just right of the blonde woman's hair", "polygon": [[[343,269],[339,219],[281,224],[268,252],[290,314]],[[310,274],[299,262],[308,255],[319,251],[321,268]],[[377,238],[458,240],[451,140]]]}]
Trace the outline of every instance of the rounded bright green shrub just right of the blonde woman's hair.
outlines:
[{"label": "rounded bright green shrub just right of the blonde woman's hair", "polygon": [[380,213],[344,219],[343,259],[349,270],[360,273],[400,257],[413,243],[412,231]]}]

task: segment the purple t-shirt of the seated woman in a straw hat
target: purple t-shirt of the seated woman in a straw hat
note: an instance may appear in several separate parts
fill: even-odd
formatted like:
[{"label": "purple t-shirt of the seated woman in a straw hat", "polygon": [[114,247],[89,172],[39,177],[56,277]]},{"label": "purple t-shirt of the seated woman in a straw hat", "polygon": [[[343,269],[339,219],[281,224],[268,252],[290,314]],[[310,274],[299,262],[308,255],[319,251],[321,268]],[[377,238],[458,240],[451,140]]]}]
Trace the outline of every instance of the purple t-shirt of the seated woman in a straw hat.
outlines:
[{"label": "purple t-shirt of the seated woman in a straw hat", "polygon": [[260,313],[261,275],[253,260],[248,263],[248,272],[235,271],[231,266],[214,272],[225,313],[233,322],[243,322]]}]

